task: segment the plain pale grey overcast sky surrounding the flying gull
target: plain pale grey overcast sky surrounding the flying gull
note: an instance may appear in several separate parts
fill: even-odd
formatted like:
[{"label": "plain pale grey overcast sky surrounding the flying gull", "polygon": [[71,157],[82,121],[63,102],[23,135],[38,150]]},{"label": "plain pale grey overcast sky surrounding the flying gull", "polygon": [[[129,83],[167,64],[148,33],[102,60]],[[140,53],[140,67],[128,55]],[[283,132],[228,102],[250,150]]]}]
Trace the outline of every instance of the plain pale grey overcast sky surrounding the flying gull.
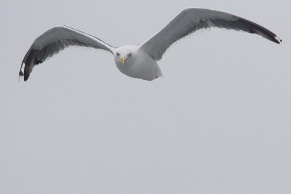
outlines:
[{"label": "plain pale grey overcast sky surrounding the flying gull", "polygon": [[[1,194],[290,194],[291,1],[0,1]],[[18,72],[64,24],[139,44],[185,7],[275,32],[212,29],[169,49],[164,78],[133,79],[107,52],[67,49]]]}]

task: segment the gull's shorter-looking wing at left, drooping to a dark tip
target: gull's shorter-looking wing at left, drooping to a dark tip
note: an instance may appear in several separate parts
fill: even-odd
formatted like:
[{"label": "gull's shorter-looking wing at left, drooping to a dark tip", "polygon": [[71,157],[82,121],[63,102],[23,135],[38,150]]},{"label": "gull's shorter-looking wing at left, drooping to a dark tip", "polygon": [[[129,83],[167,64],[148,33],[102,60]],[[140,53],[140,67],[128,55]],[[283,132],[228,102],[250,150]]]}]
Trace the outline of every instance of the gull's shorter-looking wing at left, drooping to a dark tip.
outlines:
[{"label": "gull's shorter-looking wing at left, drooping to a dark tip", "polygon": [[[114,49],[111,45],[90,34],[64,25],[56,26],[34,40],[22,61],[19,76],[24,76],[24,81],[27,81],[34,65],[43,63],[47,58],[69,46],[103,49],[111,53]],[[23,64],[25,64],[24,73],[21,71]]]}]

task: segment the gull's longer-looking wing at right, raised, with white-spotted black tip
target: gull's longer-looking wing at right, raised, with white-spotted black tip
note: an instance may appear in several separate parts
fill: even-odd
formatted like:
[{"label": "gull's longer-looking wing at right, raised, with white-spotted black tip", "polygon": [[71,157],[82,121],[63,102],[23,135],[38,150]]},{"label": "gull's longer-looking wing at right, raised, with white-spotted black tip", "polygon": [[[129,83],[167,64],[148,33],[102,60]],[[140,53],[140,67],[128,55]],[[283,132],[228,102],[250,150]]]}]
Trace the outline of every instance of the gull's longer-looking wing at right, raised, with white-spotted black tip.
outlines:
[{"label": "gull's longer-looking wing at right, raised, with white-spotted black tip", "polygon": [[159,61],[165,51],[179,39],[200,29],[211,27],[256,33],[275,43],[280,44],[282,42],[275,33],[242,17],[209,9],[187,8],[160,32],[144,42],[140,49]]}]

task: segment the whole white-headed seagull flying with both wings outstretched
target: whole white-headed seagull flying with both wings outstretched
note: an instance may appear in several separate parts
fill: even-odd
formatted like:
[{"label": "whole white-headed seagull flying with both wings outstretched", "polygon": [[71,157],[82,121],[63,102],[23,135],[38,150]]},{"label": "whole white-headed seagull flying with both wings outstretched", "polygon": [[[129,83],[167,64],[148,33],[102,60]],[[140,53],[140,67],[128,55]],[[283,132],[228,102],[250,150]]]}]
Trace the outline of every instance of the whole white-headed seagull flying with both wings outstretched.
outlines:
[{"label": "whole white-headed seagull flying with both wings outstretched", "polygon": [[[163,77],[157,61],[162,59],[163,54],[173,43],[198,30],[211,27],[256,33],[277,44],[282,42],[275,33],[252,21],[225,12],[200,8],[184,9],[144,43],[123,47],[113,47],[95,36],[59,25],[34,40],[22,61],[19,78],[24,76],[24,81],[27,81],[34,65],[43,63],[60,50],[77,46],[108,51],[113,54],[115,65],[121,73],[132,78],[152,81]],[[24,73],[21,70],[23,64]]]}]

